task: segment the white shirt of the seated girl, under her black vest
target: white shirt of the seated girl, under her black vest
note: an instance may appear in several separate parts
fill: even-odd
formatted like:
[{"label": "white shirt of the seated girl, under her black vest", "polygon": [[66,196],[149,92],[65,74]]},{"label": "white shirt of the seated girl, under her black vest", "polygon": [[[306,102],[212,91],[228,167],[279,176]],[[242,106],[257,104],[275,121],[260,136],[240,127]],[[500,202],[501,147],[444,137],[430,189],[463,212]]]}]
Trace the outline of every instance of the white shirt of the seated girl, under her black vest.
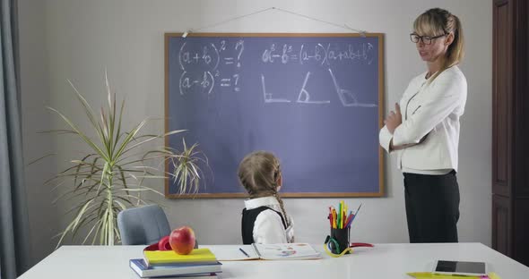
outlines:
[{"label": "white shirt of the seated girl, under her black vest", "polygon": [[[257,207],[270,207],[282,214],[279,201],[274,197],[263,197],[246,199],[244,201],[247,210]],[[271,209],[259,213],[254,224],[254,242],[257,244],[289,243],[294,239],[294,221],[291,216],[283,218],[287,222],[287,229],[282,224],[281,216]]]}]

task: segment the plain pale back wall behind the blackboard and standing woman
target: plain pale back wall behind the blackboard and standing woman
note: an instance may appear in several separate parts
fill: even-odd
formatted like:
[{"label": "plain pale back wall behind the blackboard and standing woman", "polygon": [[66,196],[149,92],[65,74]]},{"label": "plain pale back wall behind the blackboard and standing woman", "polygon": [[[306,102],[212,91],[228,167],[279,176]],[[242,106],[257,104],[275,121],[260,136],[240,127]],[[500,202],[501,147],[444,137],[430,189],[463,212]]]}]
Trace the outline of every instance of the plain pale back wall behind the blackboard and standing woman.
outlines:
[{"label": "plain pale back wall behind the blackboard and standing woman", "polygon": [[[425,70],[424,63],[410,42],[412,21],[425,10],[440,6],[458,15],[463,21],[467,55],[462,64],[468,84],[468,102],[462,119],[460,144],[461,190],[460,241],[479,241],[490,245],[490,131],[491,131],[491,4],[481,0],[371,0],[371,1],[141,1],[141,0],[48,0],[44,10],[35,11],[30,0],[21,0],[21,21],[43,24],[22,24],[21,37],[42,39],[43,49],[34,59],[24,58],[34,49],[22,47],[23,114],[27,118],[46,119],[40,100],[61,109],[74,119],[79,106],[74,101],[66,79],[73,80],[82,94],[95,107],[102,105],[103,72],[121,97],[126,97],[126,123],[133,124],[146,116],[162,116],[164,94],[163,33],[197,29],[238,15],[277,6],[324,21],[347,24],[354,29],[385,33],[386,38],[386,107],[393,107],[408,81]],[[43,14],[42,14],[43,13]],[[208,30],[212,32],[345,32],[331,25],[310,21],[291,14],[269,11]],[[44,77],[32,68],[45,69]],[[30,71],[30,69],[32,69]],[[48,94],[40,97],[40,94]],[[56,117],[54,127],[61,127]],[[46,124],[44,120],[42,124]],[[28,125],[26,159],[38,157],[44,150],[31,148],[40,139],[28,139],[37,127]],[[160,132],[162,124],[152,126]],[[56,150],[76,150],[77,142],[53,138]],[[69,156],[57,156],[58,168]],[[55,166],[54,166],[55,167]],[[31,175],[32,169],[28,172]],[[44,174],[44,173],[39,173]],[[30,189],[37,189],[47,177],[30,180]],[[162,185],[154,185],[162,190]],[[288,184],[285,184],[288,187]],[[351,238],[356,241],[408,241],[403,205],[402,174],[395,167],[395,158],[386,160],[386,198],[346,199],[350,205],[364,203],[355,221]],[[33,190],[30,194],[36,195]],[[37,198],[30,197],[31,200]],[[188,224],[195,228],[201,243],[240,242],[241,199],[163,199],[170,224]],[[325,208],[337,199],[286,199],[285,205],[296,221],[297,241],[318,243],[328,231]],[[59,206],[59,211],[64,210]],[[30,208],[31,220],[55,221],[64,226],[68,220],[52,207]],[[42,210],[41,210],[42,209]],[[49,216],[49,213],[56,215]],[[44,221],[37,221],[44,220]],[[57,228],[55,228],[57,229]],[[37,237],[37,236],[35,236]],[[37,242],[37,241],[34,241]],[[49,248],[40,247],[43,251]],[[43,252],[44,253],[44,252]]]}]

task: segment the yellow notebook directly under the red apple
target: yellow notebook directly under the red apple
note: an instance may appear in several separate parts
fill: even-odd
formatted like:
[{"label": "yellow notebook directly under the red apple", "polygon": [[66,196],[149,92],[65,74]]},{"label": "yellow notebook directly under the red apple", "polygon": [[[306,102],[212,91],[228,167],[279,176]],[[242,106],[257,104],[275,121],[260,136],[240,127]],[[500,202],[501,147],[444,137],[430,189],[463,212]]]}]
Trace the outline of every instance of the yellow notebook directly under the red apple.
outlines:
[{"label": "yellow notebook directly under the red apple", "polygon": [[148,265],[170,264],[170,263],[196,263],[216,262],[217,258],[210,249],[193,249],[187,255],[179,255],[173,250],[169,251],[143,251],[145,261]]}]

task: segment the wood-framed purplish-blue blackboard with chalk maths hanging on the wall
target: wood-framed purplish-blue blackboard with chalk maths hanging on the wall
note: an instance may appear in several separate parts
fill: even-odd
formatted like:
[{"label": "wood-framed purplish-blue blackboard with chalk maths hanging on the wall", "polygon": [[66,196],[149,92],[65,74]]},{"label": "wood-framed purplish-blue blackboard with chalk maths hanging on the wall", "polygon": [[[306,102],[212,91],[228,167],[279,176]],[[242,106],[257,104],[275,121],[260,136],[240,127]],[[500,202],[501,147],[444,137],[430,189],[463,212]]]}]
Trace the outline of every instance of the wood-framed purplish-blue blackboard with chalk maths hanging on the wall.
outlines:
[{"label": "wood-framed purplish-blue blackboard with chalk maths hanging on the wall", "polygon": [[209,162],[197,195],[166,197],[246,196],[254,150],[279,157],[283,197],[382,196],[383,65],[382,34],[165,34],[166,131]]}]

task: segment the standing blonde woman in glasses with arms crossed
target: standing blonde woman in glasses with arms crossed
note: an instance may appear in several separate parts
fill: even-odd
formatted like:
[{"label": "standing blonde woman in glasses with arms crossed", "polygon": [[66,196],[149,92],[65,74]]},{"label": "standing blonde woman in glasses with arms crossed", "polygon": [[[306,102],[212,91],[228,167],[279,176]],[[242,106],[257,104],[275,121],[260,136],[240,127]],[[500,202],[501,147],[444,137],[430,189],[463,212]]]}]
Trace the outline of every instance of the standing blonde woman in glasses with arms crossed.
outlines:
[{"label": "standing blonde woman in glasses with arms crossed", "polygon": [[413,78],[380,130],[380,145],[397,153],[404,176],[411,242],[457,242],[459,118],[466,79],[461,22],[435,8],[413,22],[412,42],[427,71]]}]

